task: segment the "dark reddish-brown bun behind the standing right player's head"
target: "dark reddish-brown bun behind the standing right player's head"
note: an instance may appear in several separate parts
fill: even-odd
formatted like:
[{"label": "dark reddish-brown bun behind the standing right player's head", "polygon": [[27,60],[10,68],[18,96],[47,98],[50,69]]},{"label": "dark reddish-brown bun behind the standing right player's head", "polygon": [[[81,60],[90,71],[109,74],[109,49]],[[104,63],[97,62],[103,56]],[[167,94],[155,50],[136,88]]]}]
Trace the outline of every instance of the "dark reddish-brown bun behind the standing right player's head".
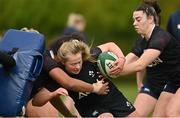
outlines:
[{"label": "dark reddish-brown bun behind the standing right player's head", "polygon": [[161,24],[161,15],[160,15],[161,9],[160,9],[160,6],[158,5],[157,1],[156,0],[143,0],[143,3],[150,5],[155,9],[155,11],[157,13],[157,17],[158,17],[157,24],[160,25]]}]

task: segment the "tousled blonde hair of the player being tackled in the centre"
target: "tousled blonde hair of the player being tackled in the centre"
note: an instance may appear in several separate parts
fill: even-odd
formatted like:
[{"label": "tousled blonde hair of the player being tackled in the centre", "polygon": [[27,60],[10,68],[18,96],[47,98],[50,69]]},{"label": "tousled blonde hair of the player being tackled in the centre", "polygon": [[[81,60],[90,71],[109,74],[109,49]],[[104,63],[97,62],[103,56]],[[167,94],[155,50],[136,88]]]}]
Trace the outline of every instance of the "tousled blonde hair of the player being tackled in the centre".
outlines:
[{"label": "tousled blonde hair of the player being tackled in the centre", "polygon": [[93,61],[93,57],[90,54],[90,47],[82,41],[76,39],[64,42],[58,49],[57,56],[61,61],[67,60],[67,55],[69,54],[82,54],[82,60]]}]

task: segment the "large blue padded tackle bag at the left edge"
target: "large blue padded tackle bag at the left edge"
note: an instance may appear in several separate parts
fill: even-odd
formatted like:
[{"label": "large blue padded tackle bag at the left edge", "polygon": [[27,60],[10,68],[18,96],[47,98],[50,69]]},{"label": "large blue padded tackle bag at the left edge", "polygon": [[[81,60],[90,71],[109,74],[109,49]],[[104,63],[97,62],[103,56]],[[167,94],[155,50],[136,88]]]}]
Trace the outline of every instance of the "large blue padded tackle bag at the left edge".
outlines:
[{"label": "large blue padded tackle bag at the left edge", "polygon": [[18,116],[26,105],[43,66],[44,36],[10,29],[0,42],[0,50],[14,49],[16,65],[9,70],[0,65],[0,116]]}]

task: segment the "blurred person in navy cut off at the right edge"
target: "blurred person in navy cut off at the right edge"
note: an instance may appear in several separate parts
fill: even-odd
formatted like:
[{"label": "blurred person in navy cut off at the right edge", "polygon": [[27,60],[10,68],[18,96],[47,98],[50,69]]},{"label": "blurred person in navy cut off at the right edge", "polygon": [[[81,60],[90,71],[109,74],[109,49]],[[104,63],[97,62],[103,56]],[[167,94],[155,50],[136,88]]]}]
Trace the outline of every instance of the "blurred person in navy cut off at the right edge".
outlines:
[{"label": "blurred person in navy cut off at the right edge", "polygon": [[170,15],[167,31],[180,41],[180,10],[177,10]]}]

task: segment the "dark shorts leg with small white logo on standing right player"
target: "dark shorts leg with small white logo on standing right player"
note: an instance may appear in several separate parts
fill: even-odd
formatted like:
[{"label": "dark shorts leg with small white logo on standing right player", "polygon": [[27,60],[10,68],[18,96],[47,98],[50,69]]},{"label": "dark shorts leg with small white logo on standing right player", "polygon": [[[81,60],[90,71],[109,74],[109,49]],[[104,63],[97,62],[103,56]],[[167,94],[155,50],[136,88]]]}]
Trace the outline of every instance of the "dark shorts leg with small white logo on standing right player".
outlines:
[{"label": "dark shorts leg with small white logo on standing right player", "polygon": [[163,89],[161,89],[161,87],[160,88],[153,87],[150,83],[144,82],[144,86],[141,87],[139,93],[145,93],[152,96],[155,99],[158,99],[162,91]]}]

